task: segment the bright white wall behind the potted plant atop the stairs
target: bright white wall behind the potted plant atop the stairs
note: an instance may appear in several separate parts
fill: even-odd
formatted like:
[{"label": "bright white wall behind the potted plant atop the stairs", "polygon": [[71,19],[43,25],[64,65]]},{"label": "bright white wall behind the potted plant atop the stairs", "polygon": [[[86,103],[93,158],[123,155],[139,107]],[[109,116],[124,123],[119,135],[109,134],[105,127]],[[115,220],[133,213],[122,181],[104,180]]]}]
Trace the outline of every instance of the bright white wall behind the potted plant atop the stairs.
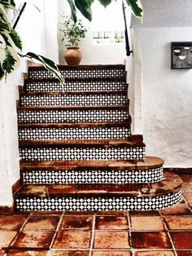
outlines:
[{"label": "bright white wall behind the potted plant atop the stairs", "polygon": [[[62,21],[61,15],[64,12],[66,15],[70,14],[68,2],[63,0],[58,1],[59,10],[59,23]],[[78,18],[83,20],[83,23],[88,29],[86,38],[81,42],[81,53],[82,60],[81,64],[124,64],[125,59],[125,46],[124,42],[113,43],[113,44],[94,44],[92,39],[93,31],[97,30],[124,30],[123,14],[121,9],[121,2],[113,2],[109,7],[104,8],[97,1],[93,7],[93,20],[89,23],[81,13],[78,11]],[[64,42],[61,42],[63,38],[58,27],[59,37],[59,64],[66,64],[64,60],[64,51],[66,48]]]}]

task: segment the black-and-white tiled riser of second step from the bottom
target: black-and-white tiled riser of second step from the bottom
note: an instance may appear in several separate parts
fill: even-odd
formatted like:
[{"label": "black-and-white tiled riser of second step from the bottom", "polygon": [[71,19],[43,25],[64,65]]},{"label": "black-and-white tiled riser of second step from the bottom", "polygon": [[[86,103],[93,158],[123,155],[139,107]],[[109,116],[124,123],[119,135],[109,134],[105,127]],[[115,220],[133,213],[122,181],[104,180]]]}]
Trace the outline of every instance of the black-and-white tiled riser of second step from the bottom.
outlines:
[{"label": "black-and-white tiled riser of second step from the bottom", "polygon": [[163,167],[151,170],[31,170],[24,183],[156,183],[164,179]]}]

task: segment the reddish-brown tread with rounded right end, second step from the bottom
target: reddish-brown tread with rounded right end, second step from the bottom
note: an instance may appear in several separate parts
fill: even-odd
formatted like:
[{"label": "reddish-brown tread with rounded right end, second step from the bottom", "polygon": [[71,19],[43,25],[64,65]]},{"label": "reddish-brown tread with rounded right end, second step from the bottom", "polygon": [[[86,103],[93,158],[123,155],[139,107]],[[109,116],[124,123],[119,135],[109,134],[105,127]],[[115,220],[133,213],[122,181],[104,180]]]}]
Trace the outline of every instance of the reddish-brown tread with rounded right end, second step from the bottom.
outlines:
[{"label": "reddish-brown tread with rounded right end, second step from the bottom", "polygon": [[116,168],[129,170],[148,170],[164,165],[159,157],[146,157],[145,160],[116,161],[116,160],[81,160],[81,161],[23,161],[24,170],[71,170],[72,168]]}]

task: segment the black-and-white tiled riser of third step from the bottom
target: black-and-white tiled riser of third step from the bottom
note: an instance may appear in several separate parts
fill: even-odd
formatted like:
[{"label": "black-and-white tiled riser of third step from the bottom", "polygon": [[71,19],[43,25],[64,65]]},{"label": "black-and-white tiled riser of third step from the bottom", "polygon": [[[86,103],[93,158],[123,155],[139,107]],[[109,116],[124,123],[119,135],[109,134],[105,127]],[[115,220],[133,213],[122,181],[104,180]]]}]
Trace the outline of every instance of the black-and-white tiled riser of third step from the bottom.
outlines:
[{"label": "black-and-white tiled riser of third step from the bottom", "polygon": [[24,161],[65,161],[65,160],[142,160],[145,147],[133,148],[20,148]]}]

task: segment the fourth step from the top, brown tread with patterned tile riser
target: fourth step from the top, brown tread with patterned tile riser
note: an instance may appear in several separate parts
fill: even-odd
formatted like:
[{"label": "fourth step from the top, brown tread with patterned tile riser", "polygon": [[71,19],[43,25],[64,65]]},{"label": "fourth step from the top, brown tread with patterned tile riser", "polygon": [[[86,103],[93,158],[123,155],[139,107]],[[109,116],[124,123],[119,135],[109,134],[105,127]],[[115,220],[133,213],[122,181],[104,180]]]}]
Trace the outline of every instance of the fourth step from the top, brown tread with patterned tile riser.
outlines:
[{"label": "fourth step from the top, brown tread with patterned tile riser", "polygon": [[19,123],[55,123],[76,121],[129,121],[129,106],[39,106],[19,107]]}]

